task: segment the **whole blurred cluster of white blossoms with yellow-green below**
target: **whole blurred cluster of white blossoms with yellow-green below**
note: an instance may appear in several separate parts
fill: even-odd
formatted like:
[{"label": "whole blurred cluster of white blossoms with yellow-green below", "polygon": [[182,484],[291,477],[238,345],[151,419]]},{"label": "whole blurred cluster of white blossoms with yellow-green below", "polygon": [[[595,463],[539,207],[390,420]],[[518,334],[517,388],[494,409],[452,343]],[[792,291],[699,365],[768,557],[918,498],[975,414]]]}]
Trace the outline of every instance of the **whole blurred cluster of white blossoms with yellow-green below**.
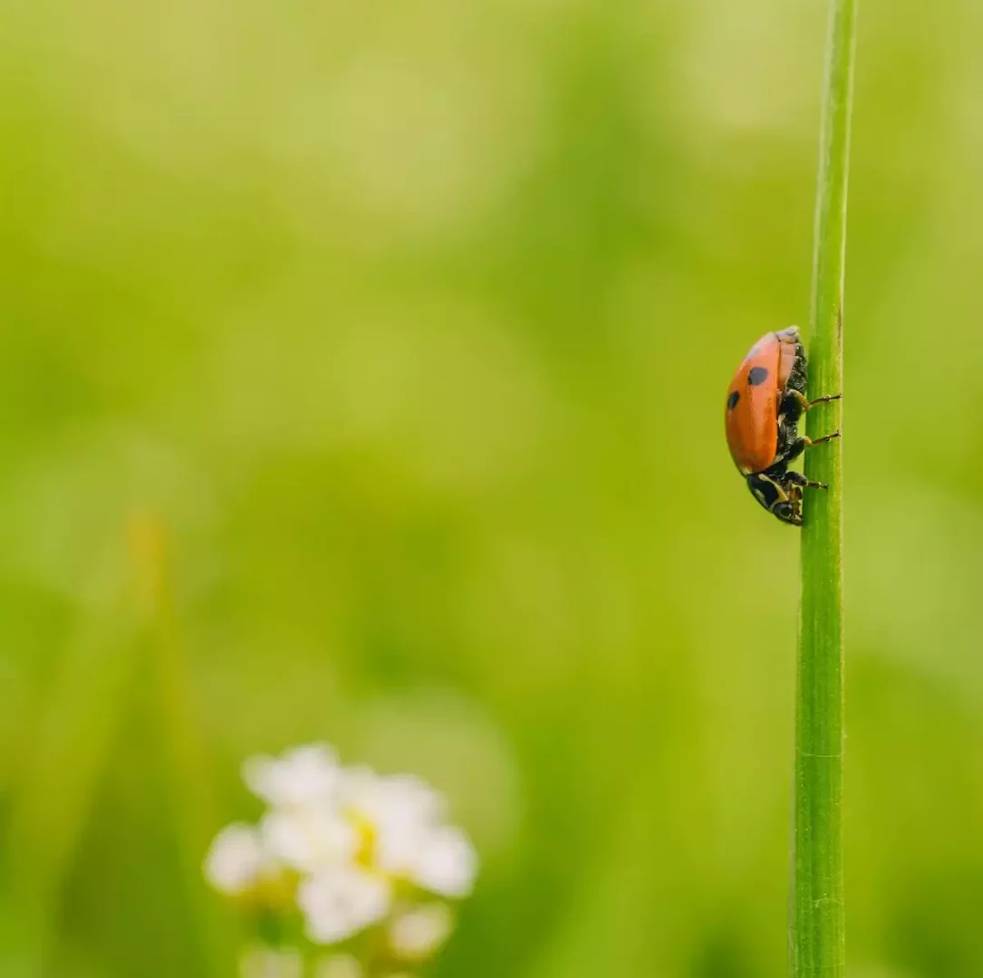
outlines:
[{"label": "whole blurred cluster of white blossoms with yellow-green below", "polygon": [[434,955],[477,872],[437,791],[320,744],[251,758],[243,777],[266,810],[223,829],[204,872],[253,925],[244,978],[409,978]]}]

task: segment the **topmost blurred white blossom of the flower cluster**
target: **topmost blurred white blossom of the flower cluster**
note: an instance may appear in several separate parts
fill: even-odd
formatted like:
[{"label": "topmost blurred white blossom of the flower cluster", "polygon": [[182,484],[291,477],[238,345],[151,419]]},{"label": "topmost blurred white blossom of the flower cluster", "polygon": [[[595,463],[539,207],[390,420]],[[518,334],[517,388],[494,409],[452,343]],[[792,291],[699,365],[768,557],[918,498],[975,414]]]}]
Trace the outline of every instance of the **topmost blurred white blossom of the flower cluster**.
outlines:
[{"label": "topmost blurred white blossom of the flower cluster", "polygon": [[294,747],[278,758],[262,754],[243,764],[250,790],[279,808],[332,801],[340,778],[337,755],[326,744]]}]

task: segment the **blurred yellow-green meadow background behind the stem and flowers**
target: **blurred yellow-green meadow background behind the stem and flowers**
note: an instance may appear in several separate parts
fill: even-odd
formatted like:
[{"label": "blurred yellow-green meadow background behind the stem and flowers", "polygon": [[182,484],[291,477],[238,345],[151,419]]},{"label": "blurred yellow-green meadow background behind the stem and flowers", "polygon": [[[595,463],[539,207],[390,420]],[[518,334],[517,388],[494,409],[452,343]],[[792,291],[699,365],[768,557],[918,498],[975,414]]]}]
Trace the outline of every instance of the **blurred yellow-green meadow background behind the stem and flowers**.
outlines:
[{"label": "blurred yellow-green meadow background behind the stem and flowers", "polygon": [[[864,3],[851,978],[983,975],[983,9]],[[238,766],[483,857],[439,978],[785,969],[797,544],[723,395],[808,315],[819,0],[0,12],[0,974],[212,976]]]}]

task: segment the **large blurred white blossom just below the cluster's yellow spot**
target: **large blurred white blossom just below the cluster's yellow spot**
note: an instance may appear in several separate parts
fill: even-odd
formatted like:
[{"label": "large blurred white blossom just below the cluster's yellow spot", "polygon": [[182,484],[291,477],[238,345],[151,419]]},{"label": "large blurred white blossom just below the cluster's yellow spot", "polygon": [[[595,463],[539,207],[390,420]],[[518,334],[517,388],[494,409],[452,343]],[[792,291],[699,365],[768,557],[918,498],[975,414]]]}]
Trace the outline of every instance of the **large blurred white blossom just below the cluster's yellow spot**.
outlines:
[{"label": "large blurred white blossom just below the cluster's yellow spot", "polygon": [[356,867],[318,873],[297,891],[308,937],[315,944],[336,944],[378,923],[389,912],[391,901],[387,880]]}]

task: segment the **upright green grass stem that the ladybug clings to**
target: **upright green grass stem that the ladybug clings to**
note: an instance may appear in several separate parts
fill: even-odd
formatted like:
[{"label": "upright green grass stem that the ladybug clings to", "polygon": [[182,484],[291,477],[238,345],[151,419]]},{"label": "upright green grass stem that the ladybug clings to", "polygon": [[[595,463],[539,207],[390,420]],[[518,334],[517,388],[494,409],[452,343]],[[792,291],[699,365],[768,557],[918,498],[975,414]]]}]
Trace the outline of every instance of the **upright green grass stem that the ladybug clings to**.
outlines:
[{"label": "upright green grass stem that the ladybug clings to", "polygon": [[[813,253],[809,396],[842,389],[846,177],[856,0],[830,0]],[[807,416],[818,438],[839,428],[840,402]],[[842,449],[807,453],[795,719],[790,957],[793,978],[843,974]]]}]

